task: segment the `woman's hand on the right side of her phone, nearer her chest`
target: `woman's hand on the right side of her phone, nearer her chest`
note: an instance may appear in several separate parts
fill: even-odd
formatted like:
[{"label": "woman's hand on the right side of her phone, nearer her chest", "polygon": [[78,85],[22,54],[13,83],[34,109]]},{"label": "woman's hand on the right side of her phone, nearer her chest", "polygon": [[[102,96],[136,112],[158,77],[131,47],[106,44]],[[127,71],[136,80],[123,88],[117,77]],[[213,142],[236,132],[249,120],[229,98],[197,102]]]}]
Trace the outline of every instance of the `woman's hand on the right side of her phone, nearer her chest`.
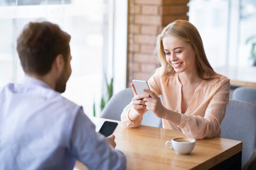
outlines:
[{"label": "woman's hand on the right side of her phone, nearer her chest", "polygon": [[151,95],[151,97],[146,97],[143,99],[146,109],[152,110],[158,118],[164,118],[166,108],[163,106],[160,97],[148,89],[144,89],[143,92]]}]

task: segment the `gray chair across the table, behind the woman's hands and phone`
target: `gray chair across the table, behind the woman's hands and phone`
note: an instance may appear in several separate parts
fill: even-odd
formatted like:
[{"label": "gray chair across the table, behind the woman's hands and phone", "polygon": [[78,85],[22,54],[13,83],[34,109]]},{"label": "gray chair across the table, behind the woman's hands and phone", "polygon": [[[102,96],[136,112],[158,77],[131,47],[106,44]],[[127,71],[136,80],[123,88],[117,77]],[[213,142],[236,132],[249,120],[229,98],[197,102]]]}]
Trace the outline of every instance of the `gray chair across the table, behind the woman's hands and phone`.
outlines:
[{"label": "gray chair across the table, behind the woman's hands and phone", "polygon": [[[126,88],[111,97],[101,112],[101,118],[119,120],[123,109],[131,102],[133,92],[131,88]],[[152,111],[147,111],[143,115],[142,125],[152,127],[162,127],[162,120],[155,116]]]}]

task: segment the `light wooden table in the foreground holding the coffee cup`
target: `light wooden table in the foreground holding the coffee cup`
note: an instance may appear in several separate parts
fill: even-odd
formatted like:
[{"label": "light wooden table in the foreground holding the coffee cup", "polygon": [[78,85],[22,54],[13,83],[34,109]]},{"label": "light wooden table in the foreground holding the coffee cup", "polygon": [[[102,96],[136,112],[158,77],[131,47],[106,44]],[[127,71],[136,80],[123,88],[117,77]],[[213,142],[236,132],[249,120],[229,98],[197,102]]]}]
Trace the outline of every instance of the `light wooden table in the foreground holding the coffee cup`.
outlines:
[{"label": "light wooden table in the foreground holding the coffee cup", "polygon": [[[105,120],[91,118],[99,130]],[[109,120],[115,121],[115,120]],[[241,169],[242,142],[224,138],[196,140],[195,148],[188,155],[180,155],[168,150],[165,142],[177,136],[184,136],[176,130],[158,127],[139,126],[126,128],[120,123],[116,128],[116,149],[127,157],[127,170],[207,170]],[[75,169],[85,170],[81,162],[76,162]]]}]

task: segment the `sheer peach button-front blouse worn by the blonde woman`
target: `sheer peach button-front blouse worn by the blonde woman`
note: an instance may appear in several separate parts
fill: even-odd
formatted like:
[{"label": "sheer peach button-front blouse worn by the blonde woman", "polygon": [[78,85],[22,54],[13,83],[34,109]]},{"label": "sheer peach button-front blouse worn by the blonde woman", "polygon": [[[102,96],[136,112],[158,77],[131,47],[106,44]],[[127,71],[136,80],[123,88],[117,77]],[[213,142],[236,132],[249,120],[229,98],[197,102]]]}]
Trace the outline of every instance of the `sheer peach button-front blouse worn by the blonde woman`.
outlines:
[{"label": "sheer peach button-front blouse worn by the blonde woman", "polygon": [[[181,113],[182,84],[178,74],[160,76],[155,73],[148,80],[150,90],[156,95],[162,95],[163,105],[169,110]],[[218,75],[212,80],[202,80],[195,89],[190,105],[184,114],[181,114],[179,125],[162,119],[163,128],[182,131],[184,135],[195,139],[220,137],[220,123],[229,103],[230,83],[229,78]],[[138,127],[142,116],[131,121],[129,112],[136,110],[128,104],[122,114],[121,121],[126,127]]]}]

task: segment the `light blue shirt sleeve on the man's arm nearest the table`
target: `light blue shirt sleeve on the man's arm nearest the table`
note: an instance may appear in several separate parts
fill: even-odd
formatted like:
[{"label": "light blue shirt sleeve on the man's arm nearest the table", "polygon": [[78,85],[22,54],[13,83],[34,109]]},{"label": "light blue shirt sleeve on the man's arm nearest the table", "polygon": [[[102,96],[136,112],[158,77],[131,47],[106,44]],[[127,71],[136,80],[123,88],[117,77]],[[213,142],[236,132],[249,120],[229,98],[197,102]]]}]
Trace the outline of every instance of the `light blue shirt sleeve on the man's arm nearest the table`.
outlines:
[{"label": "light blue shirt sleeve on the man's arm nearest the table", "polygon": [[78,111],[73,124],[70,153],[89,170],[125,170],[125,155],[113,149],[107,139],[95,131],[95,125]]}]

